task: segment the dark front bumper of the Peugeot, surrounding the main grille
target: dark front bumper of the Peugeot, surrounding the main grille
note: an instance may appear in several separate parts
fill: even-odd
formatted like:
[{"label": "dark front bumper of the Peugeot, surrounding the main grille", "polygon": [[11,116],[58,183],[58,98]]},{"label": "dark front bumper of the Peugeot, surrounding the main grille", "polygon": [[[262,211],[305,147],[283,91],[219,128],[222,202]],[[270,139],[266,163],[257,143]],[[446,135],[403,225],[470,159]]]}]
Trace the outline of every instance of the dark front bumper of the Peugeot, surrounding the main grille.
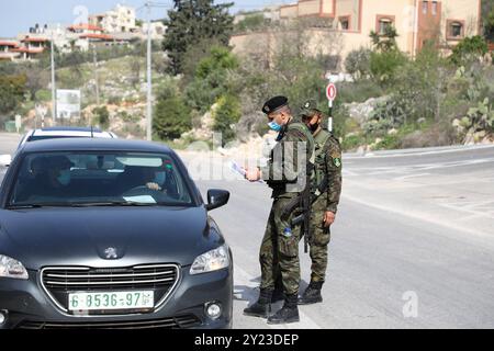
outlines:
[{"label": "dark front bumper of the Peugeot, surrounding the main grille", "polygon": [[[41,286],[38,272],[27,281],[0,279],[0,312],[7,316],[0,329],[15,328],[198,328],[232,327],[233,268],[181,279],[165,304],[148,314],[121,316],[71,316],[60,310]],[[220,303],[222,316],[212,320],[205,304]]]}]

